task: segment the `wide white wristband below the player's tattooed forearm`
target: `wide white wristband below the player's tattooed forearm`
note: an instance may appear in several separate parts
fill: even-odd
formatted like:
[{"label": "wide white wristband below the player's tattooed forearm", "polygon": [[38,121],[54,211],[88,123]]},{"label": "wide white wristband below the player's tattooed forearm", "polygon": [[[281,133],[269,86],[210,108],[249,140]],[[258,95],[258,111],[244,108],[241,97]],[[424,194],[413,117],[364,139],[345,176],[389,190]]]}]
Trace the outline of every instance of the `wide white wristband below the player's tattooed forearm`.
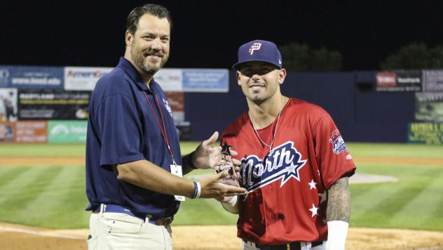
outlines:
[{"label": "wide white wristband below the player's tattooed forearm", "polygon": [[349,223],[346,221],[327,222],[326,250],[344,250]]}]

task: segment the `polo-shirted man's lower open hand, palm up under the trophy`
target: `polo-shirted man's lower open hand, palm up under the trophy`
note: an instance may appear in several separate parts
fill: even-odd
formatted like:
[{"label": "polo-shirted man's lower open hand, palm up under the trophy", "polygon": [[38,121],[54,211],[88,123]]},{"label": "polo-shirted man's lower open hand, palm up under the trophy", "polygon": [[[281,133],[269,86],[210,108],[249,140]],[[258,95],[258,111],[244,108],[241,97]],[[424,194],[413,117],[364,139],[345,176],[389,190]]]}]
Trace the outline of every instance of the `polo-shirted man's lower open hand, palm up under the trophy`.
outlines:
[{"label": "polo-shirted man's lower open hand, palm up under the trophy", "polygon": [[209,176],[200,180],[201,193],[200,198],[217,198],[230,197],[234,195],[247,195],[247,190],[243,187],[235,187],[231,185],[224,185],[218,182],[221,178],[228,176],[227,171]]}]

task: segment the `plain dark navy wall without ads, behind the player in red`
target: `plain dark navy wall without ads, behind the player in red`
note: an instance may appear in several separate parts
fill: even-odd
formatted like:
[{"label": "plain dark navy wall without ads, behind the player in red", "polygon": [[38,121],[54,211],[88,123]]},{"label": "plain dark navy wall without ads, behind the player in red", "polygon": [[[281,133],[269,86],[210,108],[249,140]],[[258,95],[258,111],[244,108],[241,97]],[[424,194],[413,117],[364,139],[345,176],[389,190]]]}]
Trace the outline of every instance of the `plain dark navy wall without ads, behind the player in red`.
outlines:
[{"label": "plain dark navy wall without ads, behind the player in red", "polygon": [[[229,73],[229,94],[185,93],[185,119],[192,140],[205,140],[247,110],[247,104]],[[288,73],[285,96],[323,107],[331,114],[343,138],[352,142],[407,142],[407,124],[414,121],[414,92],[376,92],[376,72]]]}]

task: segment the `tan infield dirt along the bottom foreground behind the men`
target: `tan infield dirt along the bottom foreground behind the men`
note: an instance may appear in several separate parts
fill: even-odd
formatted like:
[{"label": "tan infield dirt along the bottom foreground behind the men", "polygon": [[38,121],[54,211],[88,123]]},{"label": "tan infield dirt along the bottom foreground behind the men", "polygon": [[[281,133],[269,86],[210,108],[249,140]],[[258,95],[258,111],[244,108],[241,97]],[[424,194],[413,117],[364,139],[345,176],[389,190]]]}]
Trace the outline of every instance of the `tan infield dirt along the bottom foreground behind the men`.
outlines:
[{"label": "tan infield dirt along the bottom foreground behind the men", "polygon": [[[21,232],[19,232],[21,231]],[[241,249],[236,227],[173,226],[175,250]],[[48,230],[0,223],[1,249],[87,249],[88,230]],[[443,232],[350,228],[346,249],[443,249]]]}]

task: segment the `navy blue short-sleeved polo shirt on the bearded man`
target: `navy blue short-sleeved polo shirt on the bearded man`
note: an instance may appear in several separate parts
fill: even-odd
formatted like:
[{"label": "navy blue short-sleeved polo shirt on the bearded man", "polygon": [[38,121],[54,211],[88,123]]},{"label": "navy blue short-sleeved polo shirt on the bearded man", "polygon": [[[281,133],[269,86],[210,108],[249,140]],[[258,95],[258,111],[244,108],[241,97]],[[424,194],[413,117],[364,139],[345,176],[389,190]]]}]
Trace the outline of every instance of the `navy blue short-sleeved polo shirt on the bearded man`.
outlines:
[{"label": "navy blue short-sleeved polo shirt on the bearded man", "polygon": [[182,165],[179,138],[168,98],[154,79],[149,86],[150,89],[125,58],[120,58],[117,67],[97,81],[90,99],[86,139],[88,211],[104,203],[125,206],[136,213],[168,217],[179,209],[179,202],[174,196],[118,180],[111,167],[146,159],[170,171],[172,159],[154,112],[160,124],[163,114],[175,161]]}]

